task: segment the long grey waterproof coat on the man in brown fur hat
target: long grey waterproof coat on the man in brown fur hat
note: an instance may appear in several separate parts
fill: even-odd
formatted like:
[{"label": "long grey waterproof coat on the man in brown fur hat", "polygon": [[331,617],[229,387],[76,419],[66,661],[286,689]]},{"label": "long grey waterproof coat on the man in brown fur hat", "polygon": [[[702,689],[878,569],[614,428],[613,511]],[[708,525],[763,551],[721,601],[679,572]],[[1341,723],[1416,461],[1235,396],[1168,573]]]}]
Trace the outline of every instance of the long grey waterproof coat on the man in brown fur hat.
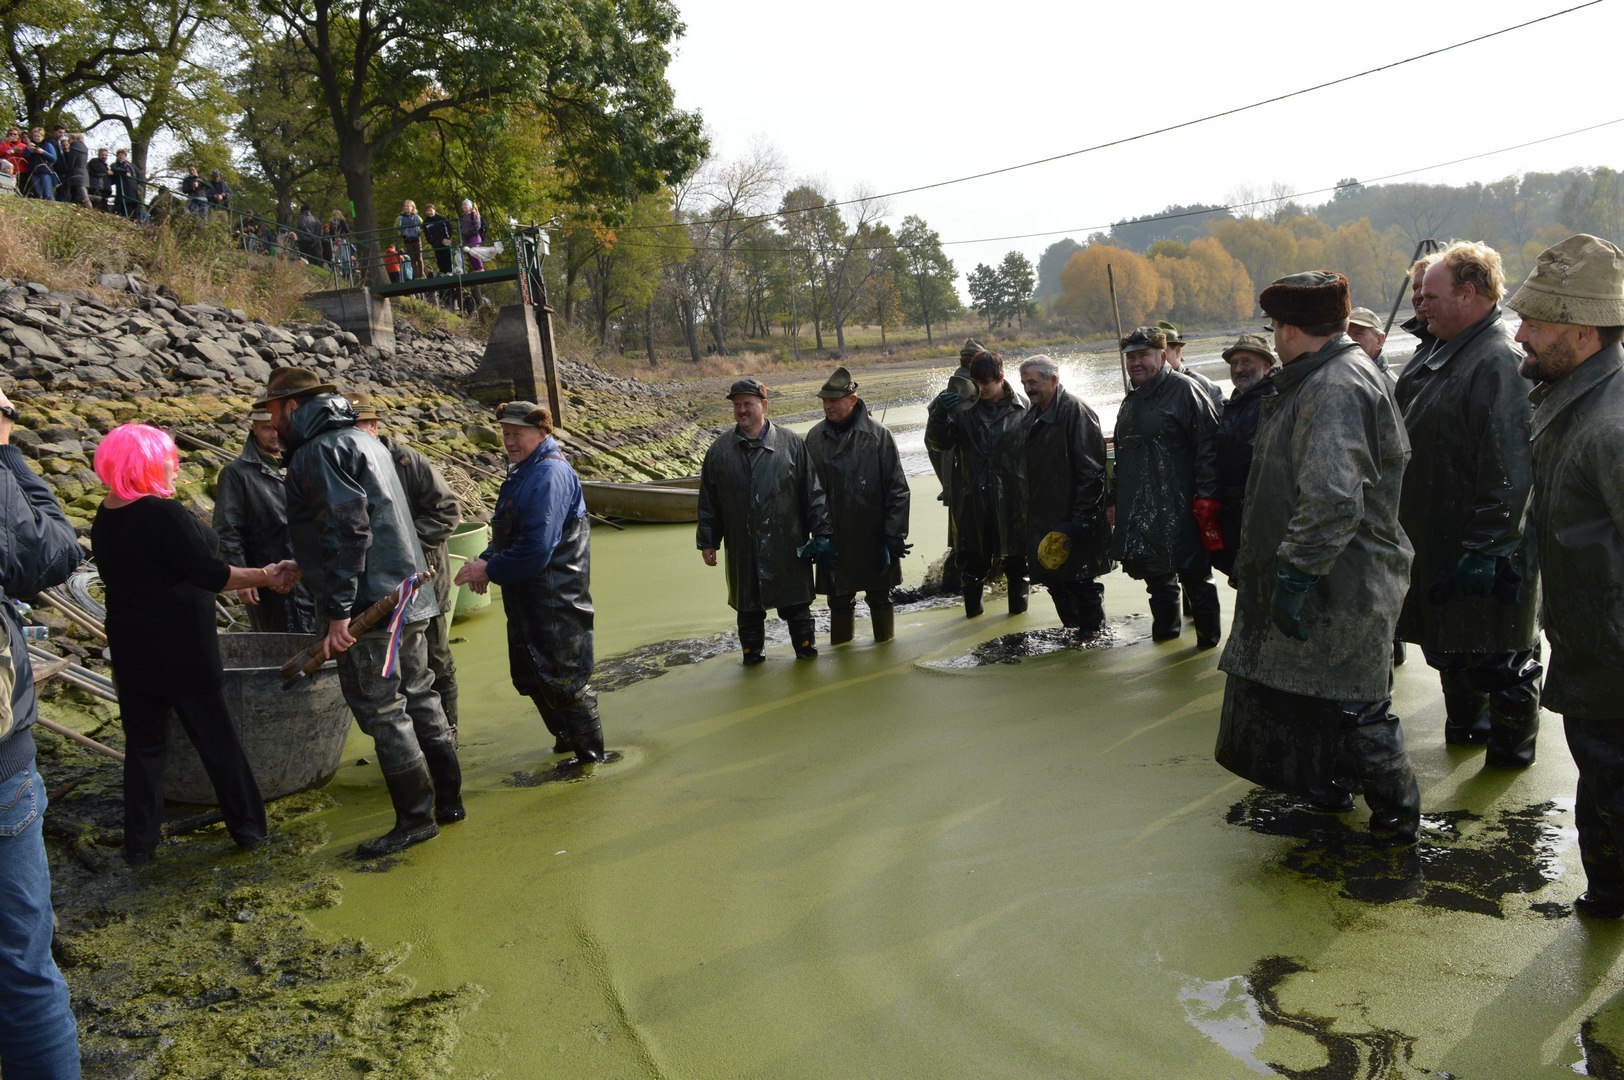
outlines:
[{"label": "long grey waterproof coat on the man in brown fur hat", "polygon": [[[1398,528],[1410,458],[1398,404],[1348,335],[1286,364],[1275,388],[1262,403],[1218,667],[1291,693],[1380,702],[1411,557]],[[1270,619],[1281,564],[1320,578],[1302,603],[1307,642]]]}]

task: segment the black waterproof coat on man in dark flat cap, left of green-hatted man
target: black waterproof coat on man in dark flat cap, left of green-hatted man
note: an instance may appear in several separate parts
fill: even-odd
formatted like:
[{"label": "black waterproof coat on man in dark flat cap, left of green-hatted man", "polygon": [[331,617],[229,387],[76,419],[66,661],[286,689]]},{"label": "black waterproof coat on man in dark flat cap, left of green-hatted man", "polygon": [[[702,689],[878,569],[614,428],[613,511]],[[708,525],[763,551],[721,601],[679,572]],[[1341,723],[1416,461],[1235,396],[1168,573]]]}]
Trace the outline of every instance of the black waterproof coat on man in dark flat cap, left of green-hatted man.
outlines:
[{"label": "black waterproof coat on man in dark flat cap, left of green-hatted man", "polygon": [[[721,547],[728,606],[767,611],[812,603],[812,564],[796,549],[810,536],[831,536],[823,484],[807,445],[771,421],[760,442],[732,427],[700,468],[700,523],[695,542]],[[838,549],[836,549],[838,551]]]}]

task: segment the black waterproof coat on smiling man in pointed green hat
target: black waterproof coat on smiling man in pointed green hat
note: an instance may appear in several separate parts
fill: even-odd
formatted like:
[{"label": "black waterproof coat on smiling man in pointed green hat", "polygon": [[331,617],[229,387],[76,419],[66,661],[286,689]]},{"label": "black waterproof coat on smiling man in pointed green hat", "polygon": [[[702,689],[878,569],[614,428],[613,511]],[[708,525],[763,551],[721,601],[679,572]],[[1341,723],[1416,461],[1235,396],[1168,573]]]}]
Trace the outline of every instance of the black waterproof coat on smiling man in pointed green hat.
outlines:
[{"label": "black waterproof coat on smiling man in pointed green hat", "polygon": [[818,421],[807,432],[807,455],[823,487],[828,523],[840,559],[818,565],[818,593],[851,596],[879,591],[890,596],[903,568],[885,547],[887,536],[908,538],[908,476],[896,440],[857,400],[840,427]]}]

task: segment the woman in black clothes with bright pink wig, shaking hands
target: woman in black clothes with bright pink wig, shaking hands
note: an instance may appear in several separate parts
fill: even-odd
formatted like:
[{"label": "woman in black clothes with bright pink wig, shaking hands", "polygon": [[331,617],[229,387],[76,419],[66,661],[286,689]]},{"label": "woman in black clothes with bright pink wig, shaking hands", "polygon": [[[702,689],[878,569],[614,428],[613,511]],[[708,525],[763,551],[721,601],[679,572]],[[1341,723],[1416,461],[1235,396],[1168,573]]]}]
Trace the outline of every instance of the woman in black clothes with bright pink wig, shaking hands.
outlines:
[{"label": "woman in black clothes with bright pink wig, shaking hands", "polygon": [[219,538],[177,503],[180,455],[167,432],[122,424],[96,448],[107,497],[91,547],[107,591],[107,648],[123,721],[123,858],[145,866],[164,812],[169,715],[180,716],[240,848],[265,843],[265,799],[231,724],[214,630],[214,594],[286,593],[292,560],[255,570],[219,559]]}]

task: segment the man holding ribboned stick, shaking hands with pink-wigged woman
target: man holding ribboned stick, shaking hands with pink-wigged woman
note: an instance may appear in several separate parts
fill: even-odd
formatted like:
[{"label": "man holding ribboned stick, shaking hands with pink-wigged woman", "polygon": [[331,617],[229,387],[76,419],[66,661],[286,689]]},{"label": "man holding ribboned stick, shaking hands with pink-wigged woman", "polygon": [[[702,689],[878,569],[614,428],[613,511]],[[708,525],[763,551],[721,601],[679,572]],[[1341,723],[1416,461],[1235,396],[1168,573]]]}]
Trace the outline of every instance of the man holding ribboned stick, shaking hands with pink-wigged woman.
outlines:
[{"label": "man holding ribboned stick, shaking hands with pink-wigged woman", "polygon": [[395,854],[468,815],[456,744],[429,669],[434,590],[417,590],[398,638],[383,627],[359,638],[349,632],[351,619],[427,568],[406,492],[383,445],[356,429],[349,401],[310,369],[278,367],[253,408],[271,414],[287,448],[294,554],[326,620],[325,648],[338,659],[344,702],[372,736],[395,806],[395,828],[356,853]]}]

